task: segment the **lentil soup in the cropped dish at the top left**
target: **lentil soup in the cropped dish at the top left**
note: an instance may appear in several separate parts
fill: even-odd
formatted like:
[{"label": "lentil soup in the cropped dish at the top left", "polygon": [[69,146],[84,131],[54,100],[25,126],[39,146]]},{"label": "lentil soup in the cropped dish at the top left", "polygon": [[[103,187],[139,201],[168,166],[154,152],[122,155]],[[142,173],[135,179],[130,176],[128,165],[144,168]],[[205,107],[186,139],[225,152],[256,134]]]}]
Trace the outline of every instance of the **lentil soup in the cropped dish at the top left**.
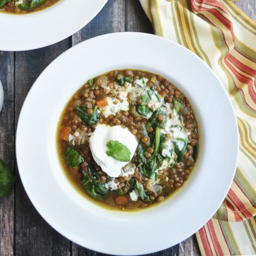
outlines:
[{"label": "lentil soup in the cropped dish at the top left", "polygon": [[60,0],[0,0],[0,12],[26,14],[53,6]]}]

